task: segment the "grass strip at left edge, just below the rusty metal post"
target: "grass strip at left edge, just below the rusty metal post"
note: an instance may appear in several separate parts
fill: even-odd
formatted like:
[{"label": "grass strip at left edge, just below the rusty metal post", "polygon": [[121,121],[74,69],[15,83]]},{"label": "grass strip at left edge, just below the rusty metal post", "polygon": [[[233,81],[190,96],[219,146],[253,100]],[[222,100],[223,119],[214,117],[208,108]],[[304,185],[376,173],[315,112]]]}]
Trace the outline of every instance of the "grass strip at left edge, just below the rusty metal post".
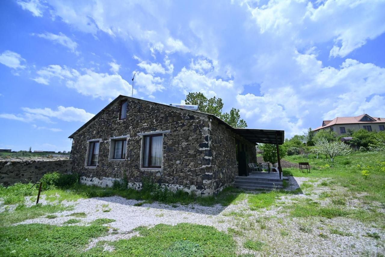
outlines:
[{"label": "grass strip at left edge, just below the rusty metal post", "polygon": [[48,213],[62,212],[64,210],[70,210],[72,207],[64,207],[63,205],[33,205],[31,207],[25,207],[20,204],[13,212],[4,211],[0,212],[0,227],[8,226],[13,223],[22,222],[23,220],[29,220],[32,218],[38,218]]}]

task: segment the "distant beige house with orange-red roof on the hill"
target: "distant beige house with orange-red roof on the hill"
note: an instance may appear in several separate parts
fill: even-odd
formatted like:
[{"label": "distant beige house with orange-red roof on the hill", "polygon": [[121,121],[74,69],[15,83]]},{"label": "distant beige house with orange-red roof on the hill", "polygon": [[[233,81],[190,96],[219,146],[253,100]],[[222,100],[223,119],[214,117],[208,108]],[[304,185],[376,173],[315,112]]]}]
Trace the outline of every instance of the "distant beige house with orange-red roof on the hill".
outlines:
[{"label": "distant beige house with orange-red roof on the hill", "polygon": [[384,131],[385,118],[372,117],[368,114],[362,114],[356,117],[337,117],[332,119],[331,121],[323,121],[322,126],[314,129],[313,131],[319,131],[320,129],[331,129],[332,131],[335,131],[337,135],[346,134],[348,129]]}]

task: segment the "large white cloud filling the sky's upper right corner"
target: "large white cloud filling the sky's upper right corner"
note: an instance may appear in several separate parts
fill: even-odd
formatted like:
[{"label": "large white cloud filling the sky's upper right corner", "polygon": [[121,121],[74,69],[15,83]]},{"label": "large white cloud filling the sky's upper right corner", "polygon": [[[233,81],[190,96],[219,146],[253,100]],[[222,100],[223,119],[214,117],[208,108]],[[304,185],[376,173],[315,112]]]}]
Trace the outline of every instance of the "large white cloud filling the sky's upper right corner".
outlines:
[{"label": "large white cloud filling the sky's upper right corner", "polygon": [[297,45],[333,40],[330,56],[345,57],[385,32],[384,8],[384,1],[371,0],[277,0],[249,10],[261,33],[294,35]]}]

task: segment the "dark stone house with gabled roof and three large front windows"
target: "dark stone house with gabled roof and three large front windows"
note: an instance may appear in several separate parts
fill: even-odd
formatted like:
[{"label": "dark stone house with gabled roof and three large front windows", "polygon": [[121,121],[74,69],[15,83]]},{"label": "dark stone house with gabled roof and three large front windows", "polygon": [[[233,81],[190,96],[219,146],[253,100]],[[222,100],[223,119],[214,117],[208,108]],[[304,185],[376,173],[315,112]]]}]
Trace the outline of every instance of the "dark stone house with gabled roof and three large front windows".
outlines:
[{"label": "dark stone house with gabled roof and three large front windows", "polygon": [[[237,175],[247,175],[261,131],[232,128],[212,114],[118,96],[69,137],[72,171],[88,185],[111,186],[126,177],[129,187],[140,189],[147,178],[173,191],[212,195]],[[278,140],[283,143],[283,131]]]}]

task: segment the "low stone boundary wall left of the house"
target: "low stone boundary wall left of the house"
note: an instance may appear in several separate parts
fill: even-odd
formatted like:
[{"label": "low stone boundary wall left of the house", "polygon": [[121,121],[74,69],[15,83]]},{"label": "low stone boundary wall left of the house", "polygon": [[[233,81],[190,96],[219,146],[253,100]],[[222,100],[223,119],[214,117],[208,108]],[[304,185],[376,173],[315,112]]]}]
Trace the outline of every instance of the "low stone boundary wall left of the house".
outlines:
[{"label": "low stone boundary wall left of the house", "polygon": [[45,173],[58,171],[71,173],[72,160],[12,160],[0,161],[0,184],[13,185],[17,182],[35,183]]}]

